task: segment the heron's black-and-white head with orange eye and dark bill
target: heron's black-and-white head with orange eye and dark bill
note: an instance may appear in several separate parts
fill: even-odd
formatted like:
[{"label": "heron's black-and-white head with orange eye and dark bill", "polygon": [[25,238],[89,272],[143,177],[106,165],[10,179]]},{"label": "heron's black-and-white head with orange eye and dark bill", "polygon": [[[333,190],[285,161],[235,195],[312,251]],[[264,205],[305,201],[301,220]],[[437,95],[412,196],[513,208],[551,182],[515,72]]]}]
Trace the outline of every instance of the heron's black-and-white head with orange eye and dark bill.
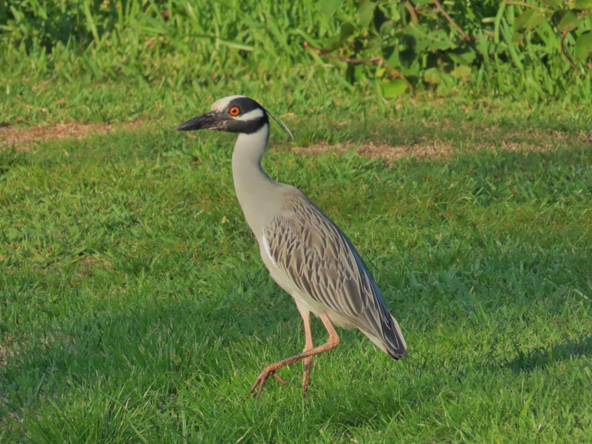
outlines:
[{"label": "heron's black-and-white head with orange eye and dark bill", "polygon": [[244,95],[230,95],[214,102],[212,110],[179,125],[177,131],[215,130],[252,134],[269,125],[267,111]]}]

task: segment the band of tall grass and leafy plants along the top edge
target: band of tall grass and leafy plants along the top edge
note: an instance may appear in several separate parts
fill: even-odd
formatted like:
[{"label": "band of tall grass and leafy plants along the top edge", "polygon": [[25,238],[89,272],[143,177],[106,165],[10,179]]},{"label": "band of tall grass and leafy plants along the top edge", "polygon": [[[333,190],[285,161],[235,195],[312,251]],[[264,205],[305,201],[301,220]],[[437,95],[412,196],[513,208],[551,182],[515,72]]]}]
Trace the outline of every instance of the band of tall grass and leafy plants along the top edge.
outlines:
[{"label": "band of tall grass and leafy plants along the top edge", "polygon": [[592,0],[20,0],[0,4],[0,30],[4,63],[30,58],[26,76],[33,66],[175,88],[253,76],[339,83],[329,65],[385,98],[592,92]]}]

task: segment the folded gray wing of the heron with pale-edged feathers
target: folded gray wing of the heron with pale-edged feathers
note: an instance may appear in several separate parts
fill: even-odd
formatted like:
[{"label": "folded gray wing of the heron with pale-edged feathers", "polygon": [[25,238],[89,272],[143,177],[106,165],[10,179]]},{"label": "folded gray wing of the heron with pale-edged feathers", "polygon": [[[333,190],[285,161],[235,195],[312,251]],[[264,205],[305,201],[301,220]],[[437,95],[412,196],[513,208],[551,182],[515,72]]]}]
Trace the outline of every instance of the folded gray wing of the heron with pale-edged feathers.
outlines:
[{"label": "folded gray wing of the heron with pale-edged feathers", "polygon": [[392,358],[407,347],[376,282],[343,232],[297,189],[265,227],[269,253],[294,285],[362,330]]}]

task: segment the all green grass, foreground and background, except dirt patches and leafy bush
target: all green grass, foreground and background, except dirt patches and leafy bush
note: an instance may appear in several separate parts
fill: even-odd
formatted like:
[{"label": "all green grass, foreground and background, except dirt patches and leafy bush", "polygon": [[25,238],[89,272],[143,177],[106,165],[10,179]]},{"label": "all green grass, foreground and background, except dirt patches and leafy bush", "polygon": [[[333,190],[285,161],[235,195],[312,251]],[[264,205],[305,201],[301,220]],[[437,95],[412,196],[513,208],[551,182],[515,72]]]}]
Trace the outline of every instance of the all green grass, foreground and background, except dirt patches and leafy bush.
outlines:
[{"label": "all green grass, foreground and background, except dirt patches and leafy bush", "polygon": [[[0,5],[0,126],[144,125],[1,142],[0,442],[592,442],[591,83],[558,35],[520,46],[504,16],[513,61],[385,100],[376,66],[350,83],[302,45],[356,22],[352,2],[70,3]],[[454,148],[302,156],[275,127],[265,159],[358,246],[407,359],[340,331],[305,400],[300,364],[247,397],[304,334],[234,197],[233,137],[172,131],[229,94],[298,146]]]}]

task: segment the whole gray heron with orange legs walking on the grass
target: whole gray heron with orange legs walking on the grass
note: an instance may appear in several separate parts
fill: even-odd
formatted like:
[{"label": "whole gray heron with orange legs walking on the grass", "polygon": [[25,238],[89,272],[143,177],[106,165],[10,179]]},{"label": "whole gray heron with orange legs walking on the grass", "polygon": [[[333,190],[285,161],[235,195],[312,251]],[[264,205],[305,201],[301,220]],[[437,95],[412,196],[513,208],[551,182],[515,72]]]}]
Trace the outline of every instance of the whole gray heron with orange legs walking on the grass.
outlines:
[{"label": "whole gray heron with orange legs walking on the grass", "polygon": [[[339,344],[334,326],[361,330],[392,359],[407,356],[401,328],[352,242],[303,192],[275,181],[263,170],[270,115],[275,119],[254,99],[230,95],[215,101],[211,111],[176,127],[177,131],[209,129],[238,134],[232,153],[237,199],[259,243],[263,263],[279,287],[294,299],[303,319],[303,352],[265,366],[250,388],[255,398],[271,376],[287,384],[278,369],[301,360],[305,396],[313,356]],[[320,318],[329,334],[322,345],[314,346],[311,313]]]}]

